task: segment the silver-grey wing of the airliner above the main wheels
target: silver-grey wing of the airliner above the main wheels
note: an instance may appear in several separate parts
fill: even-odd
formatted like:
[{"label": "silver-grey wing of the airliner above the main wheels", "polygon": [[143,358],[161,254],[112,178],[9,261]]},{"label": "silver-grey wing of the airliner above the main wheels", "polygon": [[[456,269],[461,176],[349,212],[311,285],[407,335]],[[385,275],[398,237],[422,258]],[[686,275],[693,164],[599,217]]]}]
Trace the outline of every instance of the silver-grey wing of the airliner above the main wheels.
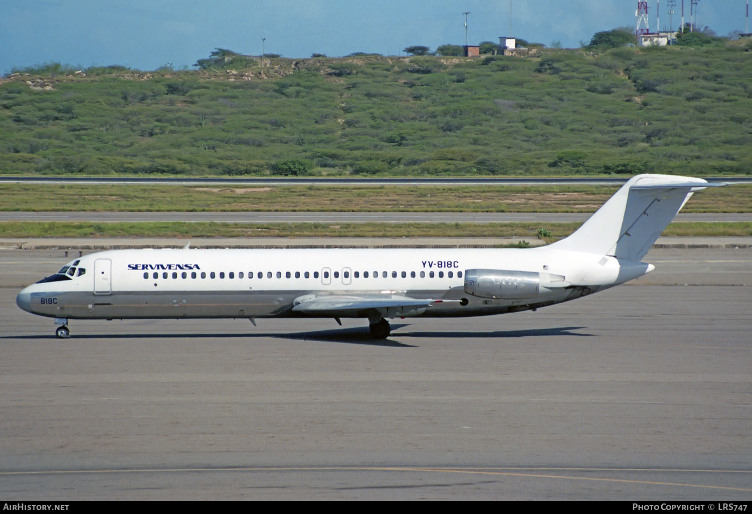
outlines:
[{"label": "silver-grey wing of the airliner above the main wheels", "polygon": [[396,295],[305,295],[293,301],[293,311],[321,316],[368,316],[378,311],[383,316],[414,316],[423,313],[434,302],[432,298],[408,298]]}]

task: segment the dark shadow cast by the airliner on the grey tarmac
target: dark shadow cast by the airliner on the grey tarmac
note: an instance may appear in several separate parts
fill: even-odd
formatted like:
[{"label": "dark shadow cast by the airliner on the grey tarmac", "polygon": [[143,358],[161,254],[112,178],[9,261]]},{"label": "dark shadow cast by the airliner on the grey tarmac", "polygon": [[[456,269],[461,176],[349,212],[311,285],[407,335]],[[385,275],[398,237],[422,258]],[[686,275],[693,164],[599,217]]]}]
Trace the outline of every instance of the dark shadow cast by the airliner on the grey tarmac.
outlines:
[{"label": "dark shadow cast by the airliner on the grey tarmac", "polygon": [[[396,331],[399,328],[409,327],[410,324],[405,323],[401,325],[392,325],[392,330]],[[392,337],[425,337],[425,338],[459,338],[459,339],[472,339],[472,338],[499,338],[506,339],[511,337],[541,337],[541,336],[576,336],[576,337],[593,337],[595,334],[581,334],[574,332],[585,327],[554,327],[554,328],[532,328],[528,330],[508,330],[508,331],[456,331],[456,332],[438,332],[438,331],[404,331],[395,334],[393,332]],[[350,343],[350,344],[362,344],[368,346],[394,346],[404,348],[415,348],[417,346],[406,343],[399,343],[393,339],[371,339],[371,332],[367,327],[354,327],[354,328],[335,328],[332,330],[311,331],[311,332],[293,332],[293,333],[263,333],[263,332],[244,332],[244,333],[232,333],[232,334],[204,334],[204,333],[188,333],[188,334],[78,334],[71,337],[71,339],[132,339],[138,337],[139,339],[223,339],[223,338],[238,338],[238,337],[274,337],[275,339],[293,339],[293,340],[305,340],[305,341],[323,341],[328,343]],[[29,336],[8,336],[2,337],[7,340],[50,340],[56,339],[53,335],[29,335]]]}]

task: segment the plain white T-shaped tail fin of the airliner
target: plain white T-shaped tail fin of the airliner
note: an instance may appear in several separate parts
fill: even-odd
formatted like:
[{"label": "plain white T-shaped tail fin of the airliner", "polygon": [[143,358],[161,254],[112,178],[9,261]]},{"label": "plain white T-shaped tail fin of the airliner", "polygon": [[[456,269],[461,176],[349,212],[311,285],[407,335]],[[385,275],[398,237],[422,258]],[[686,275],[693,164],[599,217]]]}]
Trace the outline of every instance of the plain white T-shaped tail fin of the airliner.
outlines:
[{"label": "plain white T-shaped tail fin of the airliner", "polygon": [[632,177],[574,234],[550,248],[639,261],[693,192],[724,185],[672,175]]}]

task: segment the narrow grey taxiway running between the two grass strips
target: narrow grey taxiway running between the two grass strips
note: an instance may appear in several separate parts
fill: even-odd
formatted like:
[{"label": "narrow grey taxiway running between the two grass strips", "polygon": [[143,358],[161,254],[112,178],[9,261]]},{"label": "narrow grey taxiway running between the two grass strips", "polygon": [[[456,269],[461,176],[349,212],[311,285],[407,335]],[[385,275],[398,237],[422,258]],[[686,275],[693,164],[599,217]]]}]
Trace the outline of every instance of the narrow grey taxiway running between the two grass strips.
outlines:
[{"label": "narrow grey taxiway running between the two grass strips", "polygon": [[[217,223],[566,223],[593,213],[339,213],[339,212],[0,212],[4,221]],[[750,222],[752,213],[678,214],[676,222]]]}]

